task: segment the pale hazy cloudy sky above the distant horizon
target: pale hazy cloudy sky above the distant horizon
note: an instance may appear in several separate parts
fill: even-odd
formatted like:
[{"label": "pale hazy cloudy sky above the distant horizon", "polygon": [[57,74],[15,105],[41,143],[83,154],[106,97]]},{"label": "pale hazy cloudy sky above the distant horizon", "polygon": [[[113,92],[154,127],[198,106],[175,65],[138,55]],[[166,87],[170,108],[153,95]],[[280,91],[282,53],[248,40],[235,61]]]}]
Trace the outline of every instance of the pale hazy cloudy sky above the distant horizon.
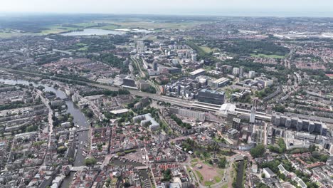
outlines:
[{"label": "pale hazy cloudy sky above the distant horizon", "polygon": [[333,0],[1,0],[1,12],[333,16]]}]

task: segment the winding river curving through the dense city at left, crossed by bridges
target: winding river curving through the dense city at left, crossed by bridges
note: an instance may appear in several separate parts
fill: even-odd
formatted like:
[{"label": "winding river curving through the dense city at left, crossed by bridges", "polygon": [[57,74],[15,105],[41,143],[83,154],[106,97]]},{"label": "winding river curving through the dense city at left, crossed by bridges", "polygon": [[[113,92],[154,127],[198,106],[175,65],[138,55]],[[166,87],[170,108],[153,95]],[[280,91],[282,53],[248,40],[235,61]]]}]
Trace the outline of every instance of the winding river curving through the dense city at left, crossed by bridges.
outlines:
[{"label": "winding river curving through the dense city at left, crossed by bridges", "polygon": [[[66,99],[68,96],[63,92],[63,90],[59,90],[56,88],[53,88],[46,84],[41,83],[35,83],[30,82],[28,80],[9,80],[9,79],[2,79],[0,78],[0,83],[5,83],[7,85],[16,85],[16,84],[22,84],[22,85],[30,85],[32,84],[35,87],[43,86],[46,91],[52,91],[53,93],[56,93],[56,96],[60,99]],[[81,112],[81,110],[73,103],[72,100],[66,100],[65,101],[67,105],[67,111],[66,113],[70,113],[73,115],[73,121],[75,125],[79,125],[80,128],[88,128],[89,123],[85,115]],[[84,165],[85,157],[83,156],[83,150],[85,150],[85,144],[88,144],[88,131],[85,132],[78,132],[78,150],[77,155],[75,156],[75,160],[73,162],[73,166],[80,167]],[[61,184],[61,187],[66,188],[69,187],[70,182],[73,179],[73,173],[70,173],[70,176],[66,177],[63,181],[63,184]]]}]

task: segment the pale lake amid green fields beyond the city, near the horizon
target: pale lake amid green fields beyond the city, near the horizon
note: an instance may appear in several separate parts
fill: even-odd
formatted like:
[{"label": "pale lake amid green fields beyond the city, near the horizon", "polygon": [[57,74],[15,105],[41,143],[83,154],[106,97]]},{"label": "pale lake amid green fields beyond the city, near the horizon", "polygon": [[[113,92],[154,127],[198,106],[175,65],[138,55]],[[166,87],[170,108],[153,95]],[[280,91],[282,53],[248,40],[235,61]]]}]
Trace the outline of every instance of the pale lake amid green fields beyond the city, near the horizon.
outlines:
[{"label": "pale lake amid green fields beyond the city, near the horizon", "polygon": [[103,36],[103,35],[124,35],[124,31],[112,31],[100,28],[85,28],[83,31],[71,31],[62,33],[62,36]]}]

